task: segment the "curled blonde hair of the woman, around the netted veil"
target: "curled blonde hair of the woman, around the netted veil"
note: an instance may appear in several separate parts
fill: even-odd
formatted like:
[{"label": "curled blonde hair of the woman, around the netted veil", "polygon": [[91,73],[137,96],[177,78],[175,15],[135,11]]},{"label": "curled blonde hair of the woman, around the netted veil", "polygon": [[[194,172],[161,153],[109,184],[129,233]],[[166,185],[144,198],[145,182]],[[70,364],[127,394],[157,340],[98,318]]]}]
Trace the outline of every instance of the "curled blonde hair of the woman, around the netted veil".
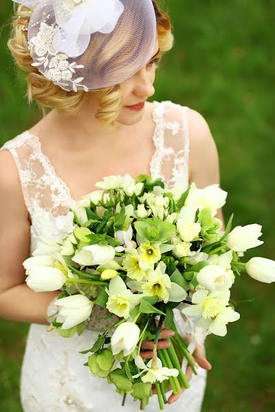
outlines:
[{"label": "curled blonde hair of the woman, around the netted veil", "polygon": [[[170,17],[152,0],[157,19],[157,36],[159,41],[160,57],[173,47],[173,34]],[[63,115],[76,114],[85,102],[87,92],[64,91],[61,87],[47,80],[37,67],[32,66],[32,57],[28,49],[28,23],[32,10],[25,5],[15,6],[12,18],[12,31],[8,40],[8,48],[17,66],[26,71],[28,86],[28,102],[33,100],[41,109],[43,116],[46,108],[55,108]],[[120,84],[89,91],[95,93],[98,102],[96,118],[107,127],[112,127],[121,111]]]}]

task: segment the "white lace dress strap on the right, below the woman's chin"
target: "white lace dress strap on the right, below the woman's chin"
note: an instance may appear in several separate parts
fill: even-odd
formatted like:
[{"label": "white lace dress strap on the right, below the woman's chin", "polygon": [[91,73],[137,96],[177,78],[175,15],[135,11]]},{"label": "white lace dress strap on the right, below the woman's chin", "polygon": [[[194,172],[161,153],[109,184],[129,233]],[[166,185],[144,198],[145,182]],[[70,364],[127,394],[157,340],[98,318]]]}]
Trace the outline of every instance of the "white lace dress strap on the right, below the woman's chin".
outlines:
[{"label": "white lace dress strap on the right, below the woman's chin", "polygon": [[173,102],[155,102],[153,136],[155,154],[151,160],[153,179],[162,177],[168,188],[188,187],[188,107]]}]

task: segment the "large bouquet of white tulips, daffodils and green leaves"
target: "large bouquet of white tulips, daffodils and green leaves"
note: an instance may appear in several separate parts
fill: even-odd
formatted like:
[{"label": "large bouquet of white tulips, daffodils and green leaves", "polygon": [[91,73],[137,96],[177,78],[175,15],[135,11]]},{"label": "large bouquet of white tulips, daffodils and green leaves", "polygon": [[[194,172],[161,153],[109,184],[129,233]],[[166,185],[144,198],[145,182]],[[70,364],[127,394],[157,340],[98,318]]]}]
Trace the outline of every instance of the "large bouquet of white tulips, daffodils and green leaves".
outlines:
[{"label": "large bouquet of white tulips, daffodils and green leaves", "polygon": [[[181,368],[196,363],[174,314],[205,334],[225,336],[226,325],[239,319],[230,299],[235,279],[246,271],[260,282],[274,282],[275,262],[240,258],[263,242],[260,225],[225,231],[217,209],[227,193],[219,185],[186,192],[165,187],[162,179],[142,174],[107,176],[99,190],[58,216],[51,236],[41,238],[33,256],[23,262],[26,282],[39,291],[61,290],[50,330],[69,337],[85,330],[94,306],[113,318],[83,354],[91,373],[140,400],[145,409],[155,385],[164,409],[168,382],[173,393],[190,386]],[[158,322],[155,321],[158,317]],[[170,347],[157,350],[161,328],[173,329]],[[144,361],[140,347],[154,341],[153,358]]]}]

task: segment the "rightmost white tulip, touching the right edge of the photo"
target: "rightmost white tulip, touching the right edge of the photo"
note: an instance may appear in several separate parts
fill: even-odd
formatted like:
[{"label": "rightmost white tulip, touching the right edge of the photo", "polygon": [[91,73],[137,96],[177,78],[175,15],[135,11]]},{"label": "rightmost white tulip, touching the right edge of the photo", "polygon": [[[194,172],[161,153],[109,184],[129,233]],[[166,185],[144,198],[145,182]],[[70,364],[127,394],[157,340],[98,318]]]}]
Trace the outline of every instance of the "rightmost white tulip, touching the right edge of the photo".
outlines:
[{"label": "rightmost white tulip, touching the right edge of the photo", "polygon": [[275,262],[266,258],[252,258],[246,264],[248,275],[259,282],[275,282]]}]

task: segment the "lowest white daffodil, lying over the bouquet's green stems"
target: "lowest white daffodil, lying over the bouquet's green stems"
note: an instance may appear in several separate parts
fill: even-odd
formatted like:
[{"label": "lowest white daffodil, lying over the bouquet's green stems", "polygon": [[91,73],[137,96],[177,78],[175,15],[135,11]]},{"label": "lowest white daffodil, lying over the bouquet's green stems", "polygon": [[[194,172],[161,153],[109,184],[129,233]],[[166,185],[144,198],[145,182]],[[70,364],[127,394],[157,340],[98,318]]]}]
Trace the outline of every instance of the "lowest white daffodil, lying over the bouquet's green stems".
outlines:
[{"label": "lowest white daffodil, lying over the bouquet's green stems", "polygon": [[135,357],[135,365],[142,371],[139,374],[132,376],[132,378],[139,378],[144,372],[147,372],[146,375],[142,376],[142,382],[163,382],[164,380],[168,379],[169,376],[178,376],[179,371],[175,368],[169,369],[168,367],[162,367],[162,361],[157,358],[157,369],[153,369],[152,362],[149,361],[147,365],[145,365],[142,357],[140,355]]}]

